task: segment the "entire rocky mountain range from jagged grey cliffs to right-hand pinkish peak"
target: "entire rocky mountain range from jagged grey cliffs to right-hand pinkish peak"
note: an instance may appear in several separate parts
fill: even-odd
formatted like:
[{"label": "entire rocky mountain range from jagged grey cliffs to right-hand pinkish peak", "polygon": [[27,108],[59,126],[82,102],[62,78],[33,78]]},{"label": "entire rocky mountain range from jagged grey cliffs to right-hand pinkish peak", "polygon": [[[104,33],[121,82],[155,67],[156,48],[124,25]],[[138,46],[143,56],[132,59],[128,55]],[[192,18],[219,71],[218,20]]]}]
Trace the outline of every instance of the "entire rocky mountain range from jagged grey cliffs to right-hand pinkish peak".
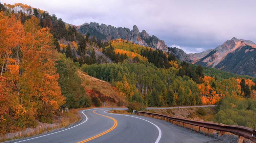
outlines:
[{"label": "entire rocky mountain range from jagged grey cliffs to right-hand pinkish peak", "polygon": [[[154,49],[159,49],[164,52],[172,53],[181,61],[187,63],[199,64],[204,67],[212,67],[223,71],[228,71],[236,74],[245,74],[256,77],[255,61],[256,44],[250,40],[237,39],[233,37],[231,40],[225,41],[222,45],[208,49],[201,53],[186,54],[183,50],[176,47],[168,47],[163,40],[156,36],[150,36],[145,30],[139,32],[136,25],[133,29],[114,27],[106,24],[98,24],[91,22],[77,26],[77,31],[91,36],[96,36],[102,41],[124,39],[135,44],[139,44]],[[241,54],[242,53],[242,54]],[[234,57],[239,58],[234,59]],[[246,60],[245,60],[246,59]],[[232,62],[232,66],[229,60]]]}]

